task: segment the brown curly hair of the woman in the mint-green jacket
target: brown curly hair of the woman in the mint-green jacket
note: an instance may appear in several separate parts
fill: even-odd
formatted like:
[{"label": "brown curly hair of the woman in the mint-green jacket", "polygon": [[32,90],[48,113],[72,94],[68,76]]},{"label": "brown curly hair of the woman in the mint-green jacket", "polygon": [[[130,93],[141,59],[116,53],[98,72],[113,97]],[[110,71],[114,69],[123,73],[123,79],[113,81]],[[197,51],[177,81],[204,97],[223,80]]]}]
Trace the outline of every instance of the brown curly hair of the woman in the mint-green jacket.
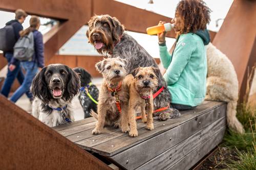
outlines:
[{"label": "brown curly hair of the woman in the mint-green jacket", "polygon": [[202,0],[183,0],[176,7],[175,15],[181,17],[178,34],[205,30],[210,22],[211,10]]}]

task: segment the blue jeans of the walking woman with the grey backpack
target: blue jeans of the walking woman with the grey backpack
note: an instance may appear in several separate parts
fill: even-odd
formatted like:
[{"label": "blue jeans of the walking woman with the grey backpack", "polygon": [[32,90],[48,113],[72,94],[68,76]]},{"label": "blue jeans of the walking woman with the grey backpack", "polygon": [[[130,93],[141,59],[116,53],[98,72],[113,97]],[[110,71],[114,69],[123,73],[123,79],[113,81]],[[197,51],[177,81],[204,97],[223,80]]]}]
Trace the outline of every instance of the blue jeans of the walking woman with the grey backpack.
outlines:
[{"label": "blue jeans of the walking woman with the grey backpack", "polygon": [[30,90],[32,80],[34,79],[34,77],[38,71],[37,63],[35,63],[34,61],[22,61],[22,62],[20,62],[20,64],[26,70],[26,75],[25,75],[25,79],[24,79],[22,85],[19,86],[19,88],[14,92],[14,94],[12,95],[12,97],[10,99],[14,103],[24,93],[26,93],[27,91]]}]

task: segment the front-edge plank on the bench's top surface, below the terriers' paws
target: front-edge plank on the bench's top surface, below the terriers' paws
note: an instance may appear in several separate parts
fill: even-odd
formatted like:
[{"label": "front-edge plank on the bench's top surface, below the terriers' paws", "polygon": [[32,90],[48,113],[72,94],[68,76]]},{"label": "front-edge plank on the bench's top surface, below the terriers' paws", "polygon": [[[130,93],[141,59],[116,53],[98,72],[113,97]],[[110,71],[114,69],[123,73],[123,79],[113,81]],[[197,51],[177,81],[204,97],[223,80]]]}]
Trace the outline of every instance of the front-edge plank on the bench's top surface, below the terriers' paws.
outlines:
[{"label": "front-edge plank on the bench's top surface, below the terriers' paws", "polygon": [[[202,127],[202,125],[205,125],[208,119],[202,119],[200,117],[199,121],[199,116],[208,112],[214,110],[216,114],[212,114],[214,116],[214,119],[220,118],[220,114],[217,114],[221,110],[216,107],[221,107],[221,109],[226,108],[224,103],[220,102],[208,102],[207,104],[202,104],[198,106],[197,109],[195,110],[190,110],[186,111],[181,117],[175,118],[175,119],[168,119],[165,122],[156,122],[155,124],[155,129],[153,131],[147,131],[144,128],[139,129],[139,136],[136,138],[131,138],[129,135],[123,135],[119,138],[115,138],[114,140],[110,140],[108,142],[104,142],[102,144],[96,145],[93,147],[91,150],[94,152],[97,152],[99,154],[105,155],[105,156],[113,156],[127,148],[132,147],[133,145],[140,143],[148,138],[152,138],[153,136],[156,136],[160,133],[163,133],[169,129],[172,129],[174,127],[177,127],[178,125],[184,124],[185,122],[188,122],[191,119],[195,119],[198,123],[201,122],[198,127],[194,127],[194,129],[191,130],[196,130],[199,127]],[[206,117],[210,117],[209,114],[205,114]]]}]

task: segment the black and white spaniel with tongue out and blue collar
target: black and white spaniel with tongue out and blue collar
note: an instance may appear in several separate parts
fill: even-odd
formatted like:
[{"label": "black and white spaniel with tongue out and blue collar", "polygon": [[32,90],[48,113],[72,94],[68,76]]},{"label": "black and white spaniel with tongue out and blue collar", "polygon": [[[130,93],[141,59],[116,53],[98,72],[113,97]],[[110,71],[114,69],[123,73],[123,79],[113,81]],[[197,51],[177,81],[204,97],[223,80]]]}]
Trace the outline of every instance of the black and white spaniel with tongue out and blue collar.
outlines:
[{"label": "black and white spaniel with tongue out and blue collar", "polygon": [[73,122],[72,99],[79,93],[80,78],[70,67],[51,64],[35,76],[32,115],[49,127]]}]

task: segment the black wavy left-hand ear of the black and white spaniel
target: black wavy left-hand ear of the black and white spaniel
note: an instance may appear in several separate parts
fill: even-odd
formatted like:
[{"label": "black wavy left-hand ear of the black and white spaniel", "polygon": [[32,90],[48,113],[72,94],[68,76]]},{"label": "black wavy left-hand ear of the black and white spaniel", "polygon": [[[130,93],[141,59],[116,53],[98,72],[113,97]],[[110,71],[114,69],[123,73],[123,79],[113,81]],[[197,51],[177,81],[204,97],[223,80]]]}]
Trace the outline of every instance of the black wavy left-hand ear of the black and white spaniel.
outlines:
[{"label": "black wavy left-hand ear of the black and white spaniel", "polygon": [[45,79],[46,69],[47,67],[44,67],[36,74],[30,89],[32,94],[44,104],[48,104],[51,99],[51,92]]}]

